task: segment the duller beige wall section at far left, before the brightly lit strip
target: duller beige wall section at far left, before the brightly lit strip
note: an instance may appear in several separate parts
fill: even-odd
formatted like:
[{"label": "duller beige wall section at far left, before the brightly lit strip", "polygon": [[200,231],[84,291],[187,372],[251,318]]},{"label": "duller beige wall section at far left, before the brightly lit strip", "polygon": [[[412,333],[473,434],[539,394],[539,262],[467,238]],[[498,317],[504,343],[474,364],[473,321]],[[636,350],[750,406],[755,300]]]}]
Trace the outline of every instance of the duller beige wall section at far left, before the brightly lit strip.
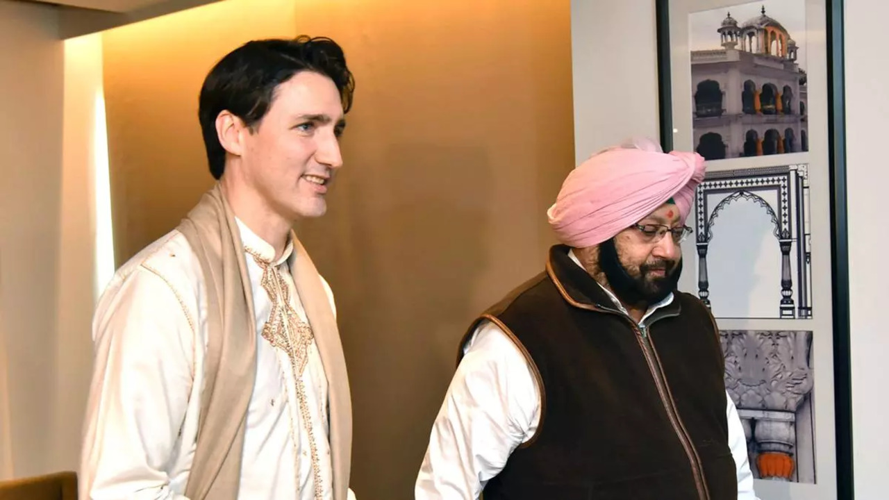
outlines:
[{"label": "duller beige wall section at far left, before the brightly lit strip", "polygon": [[0,332],[11,410],[0,418],[11,424],[16,475],[43,471],[52,451],[63,71],[56,29],[51,7],[0,1]]}]

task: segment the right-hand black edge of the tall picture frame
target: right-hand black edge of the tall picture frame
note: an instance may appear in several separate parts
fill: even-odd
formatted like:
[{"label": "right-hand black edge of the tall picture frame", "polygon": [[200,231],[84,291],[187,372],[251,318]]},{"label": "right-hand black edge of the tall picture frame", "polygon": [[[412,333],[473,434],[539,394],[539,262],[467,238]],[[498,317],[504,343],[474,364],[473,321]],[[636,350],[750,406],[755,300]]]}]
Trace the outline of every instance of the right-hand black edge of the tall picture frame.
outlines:
[{"label": "right-hand black edge of the tall picture frame", "polygon": [[843,0],[827,0],[830,270],[833,288],[834,411],[837,499],[853,500],[852,359],[849,320],[849,230],[845,185],[845,58]]}]

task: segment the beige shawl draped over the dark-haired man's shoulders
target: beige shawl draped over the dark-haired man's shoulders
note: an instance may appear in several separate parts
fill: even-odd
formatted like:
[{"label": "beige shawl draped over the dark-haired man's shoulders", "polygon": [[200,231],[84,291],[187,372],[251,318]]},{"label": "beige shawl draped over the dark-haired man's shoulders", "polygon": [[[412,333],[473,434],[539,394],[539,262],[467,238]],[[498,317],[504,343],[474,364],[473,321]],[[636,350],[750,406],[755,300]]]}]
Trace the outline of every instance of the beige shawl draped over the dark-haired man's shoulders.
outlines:
[{"label": "beige shawl draped over the dark-haired man's shoulders", "polygon": [[[256,325],[244,246],[220,185],[206,192],[179,230],[206,282],[208,344],[197,448],[188,476],[191,500],[236,500],[247,407],[256,375]],[[315,264],[295,235],[291,270],[329,386],[333,500],[346,500],[352,406],[340,333]]]}]

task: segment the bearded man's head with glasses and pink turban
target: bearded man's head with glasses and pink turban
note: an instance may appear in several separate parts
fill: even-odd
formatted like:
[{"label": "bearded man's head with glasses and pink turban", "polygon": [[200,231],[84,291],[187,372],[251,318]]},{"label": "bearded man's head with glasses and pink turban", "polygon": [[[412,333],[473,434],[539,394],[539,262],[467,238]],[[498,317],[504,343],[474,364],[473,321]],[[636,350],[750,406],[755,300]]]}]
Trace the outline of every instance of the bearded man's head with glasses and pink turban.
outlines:
[{"label": "bearded man's head with glasses and pink turban", "polygon": [[[685,219],[703,179],[704,158],[697,153],[664,154],[656,143],[637,139],[589,157],[568,174],[547,211],[549,225],[581,262],[599,268],[603,285],[638,320],[677,286],[679,243],[691,233]],[[663,238],[668,232],[671,238]]]}]

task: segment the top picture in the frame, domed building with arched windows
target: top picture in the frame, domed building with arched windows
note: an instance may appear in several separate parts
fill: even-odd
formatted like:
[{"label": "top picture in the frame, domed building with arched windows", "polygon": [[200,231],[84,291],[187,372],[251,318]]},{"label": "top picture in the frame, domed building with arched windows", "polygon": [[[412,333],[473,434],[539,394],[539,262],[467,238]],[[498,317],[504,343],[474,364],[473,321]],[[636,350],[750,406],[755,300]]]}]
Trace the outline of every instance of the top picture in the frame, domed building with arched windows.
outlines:
[{"label": "top picture in the frame, domed building with arched windows", "polygon": [[805,2],[690,16],[694,149],[708,160],[807,151]]}]

